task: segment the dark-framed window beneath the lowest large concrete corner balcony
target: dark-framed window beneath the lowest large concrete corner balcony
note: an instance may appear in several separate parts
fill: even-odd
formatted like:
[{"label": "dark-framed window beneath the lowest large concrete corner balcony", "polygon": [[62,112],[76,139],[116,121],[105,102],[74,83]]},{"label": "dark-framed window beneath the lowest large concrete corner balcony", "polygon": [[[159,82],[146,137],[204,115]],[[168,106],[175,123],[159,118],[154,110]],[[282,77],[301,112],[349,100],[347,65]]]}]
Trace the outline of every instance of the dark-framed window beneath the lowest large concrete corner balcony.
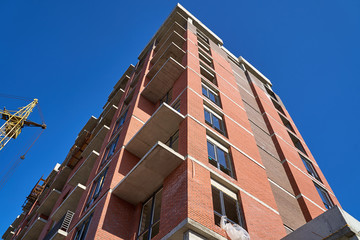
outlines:
[{"label": "dark-framed window beneath the lowest large concrete corner balcony", "polygon": [[138,240],[150,240],[159,233],[162,189],[143,204]]}]

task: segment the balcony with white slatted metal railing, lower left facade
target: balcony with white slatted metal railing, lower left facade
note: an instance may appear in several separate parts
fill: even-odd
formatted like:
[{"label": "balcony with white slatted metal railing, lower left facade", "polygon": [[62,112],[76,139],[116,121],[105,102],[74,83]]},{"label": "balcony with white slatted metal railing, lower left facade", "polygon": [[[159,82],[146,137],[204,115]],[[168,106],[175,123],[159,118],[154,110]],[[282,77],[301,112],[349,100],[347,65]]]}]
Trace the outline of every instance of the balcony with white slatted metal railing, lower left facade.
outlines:
[{"label": "balcony with white slatted metal railing, lower left facade", "polygon": [[74,213],[67,211],[66,214],[56,223],[43,240],[63,240],[68,235],[68,230]]}]

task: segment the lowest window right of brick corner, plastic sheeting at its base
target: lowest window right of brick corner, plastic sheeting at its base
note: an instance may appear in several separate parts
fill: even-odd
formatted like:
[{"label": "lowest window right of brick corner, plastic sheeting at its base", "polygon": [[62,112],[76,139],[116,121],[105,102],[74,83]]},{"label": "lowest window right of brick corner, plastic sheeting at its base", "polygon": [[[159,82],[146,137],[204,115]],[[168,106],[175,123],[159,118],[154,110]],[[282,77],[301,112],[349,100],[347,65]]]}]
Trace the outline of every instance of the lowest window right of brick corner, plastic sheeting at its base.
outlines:
[{"label": "lowest window right of brick corner, plastic sheeting at its base", "polygon": [[243,226],[236,193],[214,180],[211,180],[211,185],[215,224],[220,226],[221,216],[226,216],[230,223]]}]

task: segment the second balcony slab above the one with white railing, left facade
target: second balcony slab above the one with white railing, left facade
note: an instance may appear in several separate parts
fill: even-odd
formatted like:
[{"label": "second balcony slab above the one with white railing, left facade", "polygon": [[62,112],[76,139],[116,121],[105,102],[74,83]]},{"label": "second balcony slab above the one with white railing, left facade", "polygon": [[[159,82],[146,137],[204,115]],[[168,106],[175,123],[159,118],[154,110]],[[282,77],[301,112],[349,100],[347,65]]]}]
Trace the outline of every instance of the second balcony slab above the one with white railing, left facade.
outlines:
[{"label": "second balcony slab above the one with white railing, left facade", "polygon": [[89,156],[84,160],[84,162],[81,164],[81,166],[76,170],[76,172],[71,176],[68,183],[71,186],[76,186],[76,184],[78,183],[82,185],[86,185],[90,172],[98,156],[99,156],[98,152],[92,151],[89,154]]}]

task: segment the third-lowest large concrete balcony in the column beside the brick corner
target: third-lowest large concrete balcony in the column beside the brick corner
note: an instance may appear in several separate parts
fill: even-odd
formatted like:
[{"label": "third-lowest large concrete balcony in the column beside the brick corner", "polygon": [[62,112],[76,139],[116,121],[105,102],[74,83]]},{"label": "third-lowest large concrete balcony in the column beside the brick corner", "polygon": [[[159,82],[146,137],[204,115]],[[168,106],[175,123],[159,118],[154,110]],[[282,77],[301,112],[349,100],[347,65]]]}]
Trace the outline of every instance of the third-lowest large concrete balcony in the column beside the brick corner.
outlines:
[{"label": "third-lowest large concrete balcony in the column beside the brick corner", "polygon": [[[154,67],[157,68],[156,64]],[[154,76],[141,94],[149,101],[156,103],[172,88],[174,82],[185,70],[185,67],[170,57],[156,73],[152,72],[153,68],[149,71],[148,77],[153,76],[152,74]]]}]

